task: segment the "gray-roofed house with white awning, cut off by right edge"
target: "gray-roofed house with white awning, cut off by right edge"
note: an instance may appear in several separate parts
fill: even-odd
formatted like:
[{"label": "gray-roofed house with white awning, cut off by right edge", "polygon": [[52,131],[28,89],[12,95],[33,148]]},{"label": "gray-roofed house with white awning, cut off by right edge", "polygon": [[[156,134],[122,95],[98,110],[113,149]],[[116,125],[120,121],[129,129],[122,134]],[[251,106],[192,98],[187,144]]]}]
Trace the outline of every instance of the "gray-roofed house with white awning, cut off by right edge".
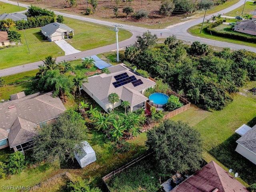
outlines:
[{"label": "gray-roofed house with white awning, cut off by right edge", "polygon": [[238,132],[238,130],[235,132],[242,135],[242,137],[236,141],[238,143],[236,152],[256,164],[256,125],[252,128],[247,126],[247,129],[244,129],[245,131],[242,133]]}]

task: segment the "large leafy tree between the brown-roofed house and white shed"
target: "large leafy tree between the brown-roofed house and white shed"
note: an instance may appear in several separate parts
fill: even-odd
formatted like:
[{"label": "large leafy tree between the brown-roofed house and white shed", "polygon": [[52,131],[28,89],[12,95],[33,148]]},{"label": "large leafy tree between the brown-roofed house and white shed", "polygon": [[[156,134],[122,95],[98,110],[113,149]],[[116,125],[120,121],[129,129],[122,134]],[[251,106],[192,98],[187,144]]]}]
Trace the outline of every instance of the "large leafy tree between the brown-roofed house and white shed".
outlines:
[{"label": "large leafy tree between the brown-roofed house and white shed", "polygon": [[80,113],[67,110],[53,124],[46,124],[34,138],[33,153],[38,161],[67,162],[74,159],[74,151],[86,139],[85,121]]}]

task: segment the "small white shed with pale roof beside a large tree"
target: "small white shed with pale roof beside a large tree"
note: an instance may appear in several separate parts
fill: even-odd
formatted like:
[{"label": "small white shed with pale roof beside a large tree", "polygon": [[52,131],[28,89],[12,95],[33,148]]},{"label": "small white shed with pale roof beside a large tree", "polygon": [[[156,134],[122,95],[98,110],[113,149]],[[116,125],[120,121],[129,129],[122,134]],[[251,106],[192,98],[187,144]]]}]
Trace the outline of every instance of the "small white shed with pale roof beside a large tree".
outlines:
[{"label": "small white shed with pale roof beside a large tree", "polygon": [[74,152],[74,154],[81,168],[96,161],[95,151],[87,141],[83,141],[82,147],[77,152]]}]

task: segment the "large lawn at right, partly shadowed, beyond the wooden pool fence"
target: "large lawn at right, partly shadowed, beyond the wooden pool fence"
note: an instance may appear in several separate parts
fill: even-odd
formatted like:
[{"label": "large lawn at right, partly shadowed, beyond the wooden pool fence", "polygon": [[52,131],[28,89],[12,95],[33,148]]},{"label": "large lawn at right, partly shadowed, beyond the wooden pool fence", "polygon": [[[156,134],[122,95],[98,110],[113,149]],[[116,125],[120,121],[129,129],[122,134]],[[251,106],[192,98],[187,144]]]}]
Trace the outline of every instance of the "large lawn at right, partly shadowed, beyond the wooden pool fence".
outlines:
[{"label": "large lawn at right, partly shadowed, beyond the wooden pool fence", "polygon": [[256,180],[256,166],[234,151],[236,140],[240,137],[234,131],[242,124],[256,124],[256,96],[246,91],[255,86],[256,81],[241,88],[234,101],[221,111],[208,112],[192,106],[172,118],[188,122],[202,134],[207,162],[218,160],[226,168],[238,172],[241,179],[250,184]]}]

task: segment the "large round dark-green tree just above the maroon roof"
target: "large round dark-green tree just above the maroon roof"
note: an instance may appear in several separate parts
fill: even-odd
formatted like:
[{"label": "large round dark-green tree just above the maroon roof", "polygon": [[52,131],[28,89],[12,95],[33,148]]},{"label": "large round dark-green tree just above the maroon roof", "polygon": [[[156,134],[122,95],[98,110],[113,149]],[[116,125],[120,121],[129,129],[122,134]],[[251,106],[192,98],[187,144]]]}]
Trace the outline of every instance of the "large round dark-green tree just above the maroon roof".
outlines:
[{"label": "large round dark-green tree just above the maroon roof", "polygon": [[202,160],[202,140],[197,130],[186,123],[164,120],[147,132],[146,146],[153,152],[160,173],[197,170]]}]

